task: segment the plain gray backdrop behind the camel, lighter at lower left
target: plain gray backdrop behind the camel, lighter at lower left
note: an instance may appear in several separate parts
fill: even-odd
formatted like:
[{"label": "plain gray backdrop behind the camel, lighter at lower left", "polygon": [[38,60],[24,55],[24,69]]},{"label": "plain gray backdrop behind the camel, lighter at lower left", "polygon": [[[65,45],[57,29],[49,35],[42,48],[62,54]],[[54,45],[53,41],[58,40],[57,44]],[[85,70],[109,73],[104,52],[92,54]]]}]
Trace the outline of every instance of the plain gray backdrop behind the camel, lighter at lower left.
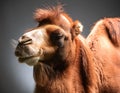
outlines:
[{"label": "plain gray backdrop behind the camel, lighter at lower left", "polygon": [[119,0],[1,0],[0,1],[0,93],[33,93],[32,67],[18,63],[12,39],[37,26],[34,10],[62,2],[65,11],[84,25],[87,36],[91,26],[104,17],[119,17]]}]

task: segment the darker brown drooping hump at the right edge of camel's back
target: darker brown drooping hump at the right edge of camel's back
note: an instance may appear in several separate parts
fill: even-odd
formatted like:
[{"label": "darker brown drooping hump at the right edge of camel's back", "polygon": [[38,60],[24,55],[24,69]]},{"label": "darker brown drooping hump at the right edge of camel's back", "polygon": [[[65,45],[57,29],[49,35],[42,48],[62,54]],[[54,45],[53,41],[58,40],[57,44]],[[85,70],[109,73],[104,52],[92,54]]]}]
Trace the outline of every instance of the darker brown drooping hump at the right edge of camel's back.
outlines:
[{"label": "darker brown drooping hump at the right edge of camel's back", "polygon": [[105,18],[104,25],[111,42],[119,47],[120,46],[120,18]]}]

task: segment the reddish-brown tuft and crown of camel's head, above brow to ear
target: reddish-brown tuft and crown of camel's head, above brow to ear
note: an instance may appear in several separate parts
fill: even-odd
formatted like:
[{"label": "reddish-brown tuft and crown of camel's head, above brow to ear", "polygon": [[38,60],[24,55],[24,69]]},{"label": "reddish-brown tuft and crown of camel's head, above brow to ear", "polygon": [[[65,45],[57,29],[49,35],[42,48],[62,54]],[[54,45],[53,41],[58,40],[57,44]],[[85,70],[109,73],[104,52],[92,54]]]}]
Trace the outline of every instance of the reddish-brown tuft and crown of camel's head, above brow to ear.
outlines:
[{"label": "reddish-brown tuft and crown of camel's head, above brow to ear", "polygon": [[38,26],[54,24],[60,26],[65,31],[70,31],[73,24],[72,18],[64,12],[61,4],[48,8],[37,9],[34,19],[39,23]]}]

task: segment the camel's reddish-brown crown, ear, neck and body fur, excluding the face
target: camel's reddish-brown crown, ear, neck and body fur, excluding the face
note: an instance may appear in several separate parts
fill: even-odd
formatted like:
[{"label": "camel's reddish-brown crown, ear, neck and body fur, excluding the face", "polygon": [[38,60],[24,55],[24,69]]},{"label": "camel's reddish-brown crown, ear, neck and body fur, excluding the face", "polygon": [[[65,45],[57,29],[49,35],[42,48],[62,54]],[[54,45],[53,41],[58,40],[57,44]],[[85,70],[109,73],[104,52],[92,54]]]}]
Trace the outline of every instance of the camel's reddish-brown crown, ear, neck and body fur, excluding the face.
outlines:
[{"label": "camel's reddish-brown crown, ear, neck and body fur, excluding the face", "polygon": [[61,6],[38,9],[34,18],[67,34],[64,47],[34,66],[35,93],[120,93],[120,18],[98,21],[86,39]]}]

